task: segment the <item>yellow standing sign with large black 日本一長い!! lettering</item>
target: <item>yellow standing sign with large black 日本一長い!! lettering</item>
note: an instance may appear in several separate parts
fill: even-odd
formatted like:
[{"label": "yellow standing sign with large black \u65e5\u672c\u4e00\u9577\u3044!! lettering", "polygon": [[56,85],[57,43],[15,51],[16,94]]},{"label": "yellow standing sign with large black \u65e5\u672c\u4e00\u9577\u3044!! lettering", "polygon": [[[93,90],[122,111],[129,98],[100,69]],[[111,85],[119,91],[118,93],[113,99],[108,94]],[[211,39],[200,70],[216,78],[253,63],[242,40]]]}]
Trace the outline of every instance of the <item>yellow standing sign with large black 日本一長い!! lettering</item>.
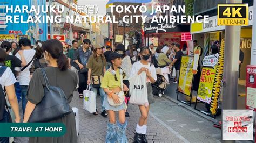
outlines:
[{"label": "yellow standing sign with large black \u65e5\u672c\u4e00\u9577\u3044!! lettering", "polygon": [[199,88],[197,92],[197,99],[204,103],[211,103],[211,97],[212,97],[212,89],[213,89],[213,83],[216,75],[216,69],[211,67],[203,67]]}]

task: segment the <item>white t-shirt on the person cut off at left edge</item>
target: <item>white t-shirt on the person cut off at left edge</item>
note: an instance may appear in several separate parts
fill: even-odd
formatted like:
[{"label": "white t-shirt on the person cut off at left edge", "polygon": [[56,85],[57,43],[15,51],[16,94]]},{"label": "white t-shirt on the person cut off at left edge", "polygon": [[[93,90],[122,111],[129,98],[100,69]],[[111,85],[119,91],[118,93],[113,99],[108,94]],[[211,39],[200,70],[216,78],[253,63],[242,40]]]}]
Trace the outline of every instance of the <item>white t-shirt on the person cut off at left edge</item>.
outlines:
[{"label": "white t-shirt on the person cut off at left edge", "polygon": [[[2,66],[0,66],[1,68]],[[8,87],[16,82],[16,78],[9,67],[6,68],[2,77],[0,77],[0,83],[4,90],[4,87]]]}]

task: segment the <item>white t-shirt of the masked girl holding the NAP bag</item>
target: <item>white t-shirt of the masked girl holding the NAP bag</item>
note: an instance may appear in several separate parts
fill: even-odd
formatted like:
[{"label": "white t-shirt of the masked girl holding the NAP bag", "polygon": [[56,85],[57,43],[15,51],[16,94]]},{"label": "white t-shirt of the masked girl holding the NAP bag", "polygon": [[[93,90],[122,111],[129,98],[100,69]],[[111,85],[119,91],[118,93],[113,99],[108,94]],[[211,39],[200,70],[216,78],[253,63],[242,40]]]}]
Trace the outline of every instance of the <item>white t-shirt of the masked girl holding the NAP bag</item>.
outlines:
[{"label": "white t-shirt of the masked girl holding the NAP bag", "polygon": [[154,78],[155,81],[157,80],[157,73],[156,73],[156,68],[154,67],[154,65],[151,64],[151,66],[150,66],[150,63],[147,65],[143,65],[140,61],[133,63],[130,77],[133,77],[135,74],[138,74],[138,71],[142,67],[149,69],[151,76]]}]

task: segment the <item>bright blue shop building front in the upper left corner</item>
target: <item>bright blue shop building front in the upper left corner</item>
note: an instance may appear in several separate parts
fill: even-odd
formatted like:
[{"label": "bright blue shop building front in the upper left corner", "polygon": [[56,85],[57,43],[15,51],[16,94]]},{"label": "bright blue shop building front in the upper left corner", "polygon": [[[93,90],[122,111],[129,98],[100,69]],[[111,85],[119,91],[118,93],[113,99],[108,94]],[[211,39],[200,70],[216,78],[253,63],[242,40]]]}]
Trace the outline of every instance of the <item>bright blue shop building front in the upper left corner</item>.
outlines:
[{"label": "bright blue shop building front in the upper left corner", "polygon": [[[0,42],[4,40],[18,42],[19,39],[28,37],[31,39],[32,44],[35,44],[36,40],[46,40],[47,38],[47,24],[46,23],[6,23],[5,16],[22,15],[24,19],[28,18],[28,13],[5,13],[6,6],[13,5],[14,7],[23,5],[45,5],[46,1],[18,1],[18,0],[2,0],[0,2]],[[34,15],[34,13],[30,13]],[[41,13],[44,15],[44,13]],[[46,15],[46,14],[45,14]],[[40,27],[40,28],[39,28]]]}]

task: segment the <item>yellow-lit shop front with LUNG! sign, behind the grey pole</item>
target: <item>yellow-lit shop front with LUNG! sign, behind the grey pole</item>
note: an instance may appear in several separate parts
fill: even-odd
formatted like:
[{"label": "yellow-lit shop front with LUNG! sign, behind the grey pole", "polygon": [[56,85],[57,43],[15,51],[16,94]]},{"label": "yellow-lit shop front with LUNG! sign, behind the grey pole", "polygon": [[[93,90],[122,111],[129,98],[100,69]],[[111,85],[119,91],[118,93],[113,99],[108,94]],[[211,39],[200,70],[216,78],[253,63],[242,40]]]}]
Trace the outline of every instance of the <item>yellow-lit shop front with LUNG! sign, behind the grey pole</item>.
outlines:
[{"label": "yellow-lit shop front with LUNG! sign, behind the grey pole", "polygon": [[[241,35],[242,39],[241,51],[244,52],[244,61],[241,64],[239,85],[238,85],[238,94],[239,96],[245,95],[245,79],[246,79],[246,66],[250,65],[251,59],[251,44],[252,44],[252,13],[253,6],[249,7],[249,24],[248,26],[241,27]],[[217,25],[217,16],[213,16],[209,18],[209,23],[191,23],[191,34],[193,34],[193,39],[197,39],[199,45],[203,47],[203,55],[211,54],[209,51],[211,45],[214,44],[215,41],[221,41],[221,39],[225,38],[225,26]],[[225,53],[226,54],[226,53]],[[238,101],[241,102],[241,101]],[[245,101],[242,101],[245,102]],[[241,103],[241,107],[245,107],[245,103]]]}]

